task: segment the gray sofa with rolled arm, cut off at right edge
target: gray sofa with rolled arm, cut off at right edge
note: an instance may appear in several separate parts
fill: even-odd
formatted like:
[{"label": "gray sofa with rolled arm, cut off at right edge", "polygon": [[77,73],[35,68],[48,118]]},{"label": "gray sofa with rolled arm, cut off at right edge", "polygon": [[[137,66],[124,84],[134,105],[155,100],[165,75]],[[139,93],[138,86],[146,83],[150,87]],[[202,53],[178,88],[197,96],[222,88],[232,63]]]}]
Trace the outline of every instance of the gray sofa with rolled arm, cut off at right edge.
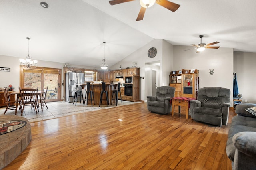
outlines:
[{"label": "gray sofa with rolled arm, cut off at right edge", "polygon": [[232,161],[233,170],[256,169],[256,116],[245,109],[256,104],[246,103],[236,106],[226,144],[226,154]]}]

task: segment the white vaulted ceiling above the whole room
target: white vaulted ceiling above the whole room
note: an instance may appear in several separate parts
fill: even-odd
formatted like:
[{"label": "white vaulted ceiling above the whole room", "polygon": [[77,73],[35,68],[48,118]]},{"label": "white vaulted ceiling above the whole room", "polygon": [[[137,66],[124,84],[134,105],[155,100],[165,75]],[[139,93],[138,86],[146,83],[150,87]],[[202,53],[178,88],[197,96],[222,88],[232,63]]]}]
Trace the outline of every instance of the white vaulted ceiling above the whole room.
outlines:
[{"label": "white vaulted ceiling above the whole room", "polygon": [[[139,0],[0,0],[0,55],[98,67],[109,66],[153,39],[173,45],[218,41],[220,47],[256,52],[255,0],[171,0],[176,12],[154,4],[136,21]],[[218,49],[207,49],[218,50]],[[40,65],[40,63],[38,63]]]}]

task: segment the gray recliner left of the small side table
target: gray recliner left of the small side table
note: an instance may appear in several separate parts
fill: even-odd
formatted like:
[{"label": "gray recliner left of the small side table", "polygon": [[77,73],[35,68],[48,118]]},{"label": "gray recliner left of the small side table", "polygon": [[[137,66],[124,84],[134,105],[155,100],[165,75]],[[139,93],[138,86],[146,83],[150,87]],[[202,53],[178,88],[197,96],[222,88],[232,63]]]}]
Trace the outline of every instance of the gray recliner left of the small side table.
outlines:
[{"label": "gray recliner left of the small side table", "polygon": [[175,88],[161,86],[156,88],[155,96],[147,96],[148,110],[160,114],[168,114],[171,111],[171,97],[174,97]]}]

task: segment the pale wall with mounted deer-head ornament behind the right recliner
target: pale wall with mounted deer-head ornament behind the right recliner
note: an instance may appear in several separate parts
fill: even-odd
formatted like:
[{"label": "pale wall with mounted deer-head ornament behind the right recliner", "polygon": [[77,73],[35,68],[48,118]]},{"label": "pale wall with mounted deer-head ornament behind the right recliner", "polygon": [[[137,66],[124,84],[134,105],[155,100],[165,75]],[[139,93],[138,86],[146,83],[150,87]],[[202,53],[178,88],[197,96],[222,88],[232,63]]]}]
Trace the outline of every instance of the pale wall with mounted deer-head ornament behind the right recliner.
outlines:
[{"label": "pale wall with mounted deer-head ornament behind the right recliner", "polygon": [[[233,49],[220,47],[196,53],[192,48],[174,45],[173,70],[198,69],[199,87],[225,87],[233,93]],[[213,75],[209,69],[214,69]],[[230,103],[233,105],[232,95]]]}]

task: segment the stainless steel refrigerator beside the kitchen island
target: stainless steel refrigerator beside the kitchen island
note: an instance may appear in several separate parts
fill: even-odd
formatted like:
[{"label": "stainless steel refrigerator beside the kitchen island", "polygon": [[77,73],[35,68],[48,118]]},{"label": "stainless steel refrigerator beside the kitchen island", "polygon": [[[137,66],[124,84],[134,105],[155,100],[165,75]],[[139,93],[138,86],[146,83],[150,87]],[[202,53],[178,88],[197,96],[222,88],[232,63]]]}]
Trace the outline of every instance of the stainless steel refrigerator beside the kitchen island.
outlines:
[{"label": "stainless steel refrigerator beside the kitchen island", "polygon": [[84,84],[84,73],[66,73],[65,101],[73,102],[76,87],[82,88]]}]

